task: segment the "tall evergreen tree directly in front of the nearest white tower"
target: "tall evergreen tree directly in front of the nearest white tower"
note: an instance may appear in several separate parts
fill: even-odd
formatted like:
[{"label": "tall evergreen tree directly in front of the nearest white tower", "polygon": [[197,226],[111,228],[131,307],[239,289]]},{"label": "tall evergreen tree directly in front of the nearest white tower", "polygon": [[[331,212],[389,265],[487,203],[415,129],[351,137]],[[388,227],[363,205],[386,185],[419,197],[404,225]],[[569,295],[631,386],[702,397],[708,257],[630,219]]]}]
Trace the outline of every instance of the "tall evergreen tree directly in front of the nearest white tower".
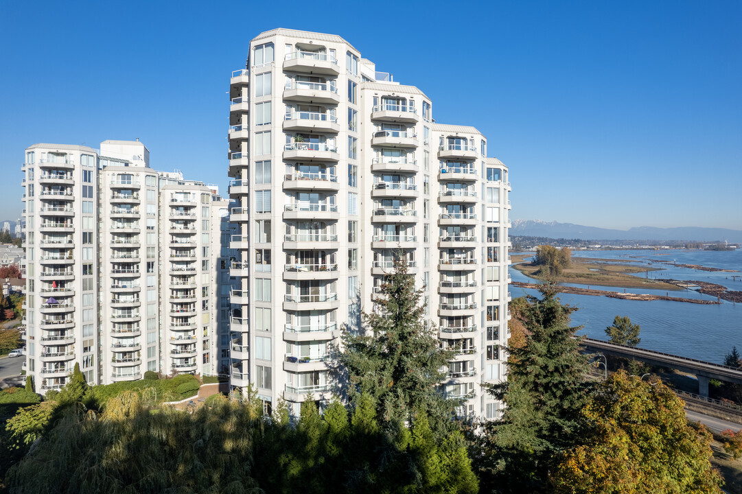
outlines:
[{"label": "tall evergreen tree directly in front of the nearest white tower", "polygon": [[426,327],[421,292],[407,273],[407,263],[395,260],[394,266],[374,311],[364,314],[370,331],[344,333],[340,360],[348,372],[348,393],[354,401],[369,395],[384,423],[410,423],[413,412],[427,409],[436,427],[444,427],[450,424],[456,402],[445,399],[437,385],[445,377],[440,369],[451,354],[439,348],[432,329]]}]

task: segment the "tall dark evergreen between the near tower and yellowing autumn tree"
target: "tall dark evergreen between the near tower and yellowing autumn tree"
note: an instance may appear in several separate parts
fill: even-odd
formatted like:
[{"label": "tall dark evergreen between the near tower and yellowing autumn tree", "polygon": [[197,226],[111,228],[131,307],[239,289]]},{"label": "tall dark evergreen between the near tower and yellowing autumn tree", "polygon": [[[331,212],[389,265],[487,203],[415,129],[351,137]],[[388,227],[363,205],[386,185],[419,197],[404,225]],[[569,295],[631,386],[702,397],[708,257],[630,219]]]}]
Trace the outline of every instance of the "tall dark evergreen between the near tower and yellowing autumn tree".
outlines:
[{"label": "tall dark evergreen between the near tower and yellowing autumn tree", "polygon": [[508,407],[502,419],[485,424],[477,463],[485,492],[546,492],[554,458],[574,445],[583,429],[582,406],[588,398],[575,309],[562,305],[558,287],[546,281],[542,299],[528,295],[522,323],[524,346],[510,348],[508,381],[490,391]]}]

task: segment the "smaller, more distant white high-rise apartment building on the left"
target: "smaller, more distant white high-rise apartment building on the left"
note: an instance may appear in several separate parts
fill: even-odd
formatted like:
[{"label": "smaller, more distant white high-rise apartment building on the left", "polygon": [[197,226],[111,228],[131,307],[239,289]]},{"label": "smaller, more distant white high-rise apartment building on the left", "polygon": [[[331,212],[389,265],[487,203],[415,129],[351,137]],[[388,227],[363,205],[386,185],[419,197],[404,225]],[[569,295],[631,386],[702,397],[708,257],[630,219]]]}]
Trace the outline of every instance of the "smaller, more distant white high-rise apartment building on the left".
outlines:
[{"label": "smaller, more distant white high-rise apartment building on the left", "polygon": [[229,203],[214,186],[154,171],[138,140],[32,145],[22,169],[36,389],[64,386],[74,363],[96,384],[226,368],[229,277],[214,266],[230,258]]}]

